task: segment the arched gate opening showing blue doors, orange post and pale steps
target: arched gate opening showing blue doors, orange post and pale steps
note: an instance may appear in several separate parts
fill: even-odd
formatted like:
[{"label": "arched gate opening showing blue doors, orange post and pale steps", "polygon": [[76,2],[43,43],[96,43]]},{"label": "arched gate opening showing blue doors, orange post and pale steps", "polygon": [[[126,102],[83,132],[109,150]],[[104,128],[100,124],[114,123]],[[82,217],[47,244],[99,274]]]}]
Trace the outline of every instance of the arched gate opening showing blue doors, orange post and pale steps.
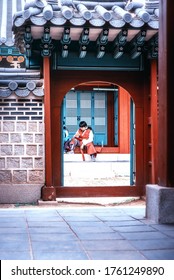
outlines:
[{"label": "arched gate opening showing blue doors, orange post and pale steps", "polygon": [[62,103],[69,139],[82,120],[94,131],[96,161],[87,154],[83,161],[79,149],[63,151],[63,186],[135,185],[135,106],[129,93],[98,82],[70,89]]}]

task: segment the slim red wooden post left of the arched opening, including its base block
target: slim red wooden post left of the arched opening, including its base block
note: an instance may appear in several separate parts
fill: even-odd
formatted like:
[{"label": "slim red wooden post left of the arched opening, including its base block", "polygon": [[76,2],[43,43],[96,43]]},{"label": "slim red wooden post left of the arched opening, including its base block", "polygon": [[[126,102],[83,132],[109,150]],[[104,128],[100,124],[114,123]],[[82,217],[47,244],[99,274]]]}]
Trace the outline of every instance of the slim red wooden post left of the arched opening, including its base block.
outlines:
[{"label": "slim red wooden post left of the arched opening, including its base block", "polygon": [[50,59],[44,57],[44,108],[45,108],[45,186],[42,188],[43,200],[55,200],[56,192],[52,186],[52,145],[51,145],[51,95]]}]

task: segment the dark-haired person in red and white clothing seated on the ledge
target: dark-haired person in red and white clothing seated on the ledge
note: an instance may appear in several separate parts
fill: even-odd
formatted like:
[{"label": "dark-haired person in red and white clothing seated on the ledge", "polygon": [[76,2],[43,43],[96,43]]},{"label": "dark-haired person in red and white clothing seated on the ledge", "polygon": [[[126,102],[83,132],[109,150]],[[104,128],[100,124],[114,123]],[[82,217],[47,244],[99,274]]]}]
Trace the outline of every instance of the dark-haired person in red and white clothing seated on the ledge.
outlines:
[{"label": "dark-haired person in red and white clothing seated on the ledge", "polygon": [[93,144],[94,134],[92,128],[87,125],[85,121],[81,121],[79,123],[79,129],[77,130],[76,134],[72,138],[70,145],[72,145],[72,149],[76,146],[80,147],[83,160],[85,160],[83,155],[83,148],[86,147],[87,154],[91,156],[91,160],[95,161],[97,156],[97,151]]}]

